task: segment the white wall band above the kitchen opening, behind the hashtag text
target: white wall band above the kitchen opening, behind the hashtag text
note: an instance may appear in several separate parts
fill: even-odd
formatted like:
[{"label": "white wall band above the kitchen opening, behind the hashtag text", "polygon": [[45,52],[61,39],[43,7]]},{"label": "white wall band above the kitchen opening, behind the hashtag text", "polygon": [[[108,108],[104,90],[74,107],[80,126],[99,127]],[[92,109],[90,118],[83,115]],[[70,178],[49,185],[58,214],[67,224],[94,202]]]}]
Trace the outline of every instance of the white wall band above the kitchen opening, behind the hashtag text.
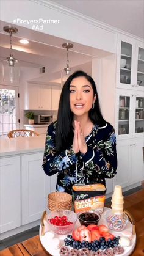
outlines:
[{"label": "white wall band above the kitchen opening, behind the hashtag text", "polygon": [[[67,13],[66,11],[54,10],[54,7],[47,4],[41,4],[41,1],[33,2],[29,0],[16,1],[16,0],[1,0],[0,17],[2,21],[7,23],[13,23],[15,19],[21,20],[38,20],[43,18],[45,20],[57,20],[58,24],[43,24],[39,23],[38,26],[43,26],[39,32],[43,32],[56,37],[64,38],[72,42],[81,43],[83,45],[92,46],[98,49],[104,49],[110,53],[116,53],[117,51],[117,34],[107,31],[101,27],[96,26],[95,21],[80,18],[74,16],[73,13]],[[15,25],[27,27],[32,29],[34,24],[21,23],[18,20]]]}]

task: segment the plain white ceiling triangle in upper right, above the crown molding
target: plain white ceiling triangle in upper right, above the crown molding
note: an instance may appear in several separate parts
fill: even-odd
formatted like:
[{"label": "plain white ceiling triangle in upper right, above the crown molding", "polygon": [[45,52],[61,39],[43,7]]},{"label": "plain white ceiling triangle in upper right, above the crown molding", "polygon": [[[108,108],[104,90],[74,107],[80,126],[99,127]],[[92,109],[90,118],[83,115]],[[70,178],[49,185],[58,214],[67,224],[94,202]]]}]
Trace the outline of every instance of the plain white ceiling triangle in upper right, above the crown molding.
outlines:
[{"label": "plain white ceiling triangle in upper right, above the crown molding", "polygon": [[143,0],[52,0],[51,2],[144,38]]}]

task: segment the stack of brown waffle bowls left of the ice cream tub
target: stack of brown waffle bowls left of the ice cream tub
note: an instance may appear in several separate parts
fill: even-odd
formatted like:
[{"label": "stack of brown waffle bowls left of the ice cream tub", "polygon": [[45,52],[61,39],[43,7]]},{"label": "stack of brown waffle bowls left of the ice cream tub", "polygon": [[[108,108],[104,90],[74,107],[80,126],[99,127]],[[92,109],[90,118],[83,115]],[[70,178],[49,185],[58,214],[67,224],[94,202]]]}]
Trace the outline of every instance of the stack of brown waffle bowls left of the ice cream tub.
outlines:
[{"label": "stack of brown waffle bowls left of the ice cream tub", "polygon": [[72,196],[70,194],[65,192],[52,192],[48,195],[49,210],[71,210],[72,207]]}]

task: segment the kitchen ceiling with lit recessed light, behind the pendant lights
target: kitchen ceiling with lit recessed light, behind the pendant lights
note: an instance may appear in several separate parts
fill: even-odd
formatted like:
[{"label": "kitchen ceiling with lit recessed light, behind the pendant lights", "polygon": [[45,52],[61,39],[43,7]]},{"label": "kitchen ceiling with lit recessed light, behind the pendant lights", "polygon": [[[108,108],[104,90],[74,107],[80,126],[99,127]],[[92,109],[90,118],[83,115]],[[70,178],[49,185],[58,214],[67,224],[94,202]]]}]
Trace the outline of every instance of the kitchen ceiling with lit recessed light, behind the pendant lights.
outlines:
[{"label": "kitchen ceiling with lit recessed light, behind the pendant lights", "polygon": [[[3,31],[7,23],[0,23],[0,57],[5,59],[9,57],[10,36]],[[58,37],[52,37],[41,32],[32,31],[24,27],[16,26],[18,33],[12,35],[13,56],[26,67],[48,66],[49,72],[62,70],[67,62],[67,49],[62,47],[65,40]],[[21,45],[21,38],[29,40],[29,44]],[[91,48],[78,43],[73,43],[74,47],[69,51],[70,66],[84,64],[92,61],[95,57],[106,57],[110,53],[99,49]]]}]

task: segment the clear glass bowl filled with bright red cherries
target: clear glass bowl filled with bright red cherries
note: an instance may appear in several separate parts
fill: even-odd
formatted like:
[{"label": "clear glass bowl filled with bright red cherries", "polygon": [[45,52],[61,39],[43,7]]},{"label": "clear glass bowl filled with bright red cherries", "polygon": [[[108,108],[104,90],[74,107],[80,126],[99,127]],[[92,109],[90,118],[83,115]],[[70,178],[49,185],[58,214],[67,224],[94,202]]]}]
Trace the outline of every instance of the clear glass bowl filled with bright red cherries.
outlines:
[{"label": "clear glass bowl filled with bright red cherries", "polygon": [[77,214],[71,210],[51,211],[47,214],[46,220],[54,233],[66,235],[74,229]]}]

